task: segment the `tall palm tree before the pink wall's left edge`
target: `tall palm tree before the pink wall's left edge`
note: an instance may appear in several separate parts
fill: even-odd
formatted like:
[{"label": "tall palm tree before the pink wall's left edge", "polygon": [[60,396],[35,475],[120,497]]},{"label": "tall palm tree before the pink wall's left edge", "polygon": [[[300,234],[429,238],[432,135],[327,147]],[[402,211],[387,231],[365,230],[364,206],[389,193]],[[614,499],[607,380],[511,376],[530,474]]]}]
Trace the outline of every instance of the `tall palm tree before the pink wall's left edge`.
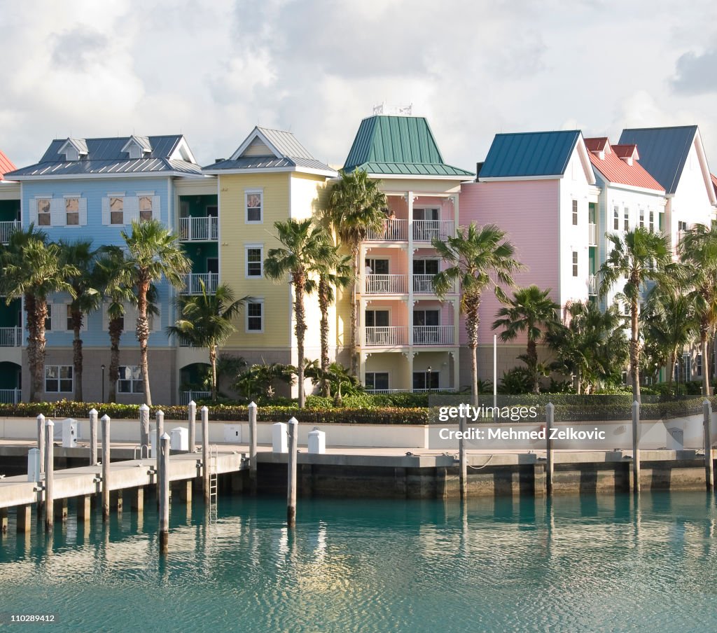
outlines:
[{"label": "tall palm tree before the pink wall's left edge", "polygon": [[468,335],[471,365],[471,394],[473,404],[478,406],[478,328],[480,325],[480,300],[483,292],[493,287],[499,300],[505,301],[505,292],[499,283],[513,285],[513,273],[522,266],[515,259],[516,249],[505,239],[505,231],[495,224],[478,227],[473,222],[461,227],[455,237],[445,242],[433,239],[438,257],[448,267],[433,277],[433,284],[439,298],[455,283],[460,283],[460,309],[465,314],[465,330]]}]

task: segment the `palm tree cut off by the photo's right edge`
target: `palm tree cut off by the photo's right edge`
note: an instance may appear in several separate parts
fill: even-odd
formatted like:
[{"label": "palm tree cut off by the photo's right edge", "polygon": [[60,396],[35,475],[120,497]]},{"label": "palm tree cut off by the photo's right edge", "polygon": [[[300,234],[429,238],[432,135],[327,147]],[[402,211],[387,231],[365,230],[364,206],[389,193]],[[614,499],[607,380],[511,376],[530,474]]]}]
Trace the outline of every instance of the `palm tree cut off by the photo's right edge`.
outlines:
[{"label": "palm tree cut off by the photo's right edge", "polygon": [[708,340],[717,327],[717,227],[695,224],[685,233],[679,252],[686,267],[686,285],[691,288],[689,297],[699,320],[703,394],[709,397],[712,391]]}]

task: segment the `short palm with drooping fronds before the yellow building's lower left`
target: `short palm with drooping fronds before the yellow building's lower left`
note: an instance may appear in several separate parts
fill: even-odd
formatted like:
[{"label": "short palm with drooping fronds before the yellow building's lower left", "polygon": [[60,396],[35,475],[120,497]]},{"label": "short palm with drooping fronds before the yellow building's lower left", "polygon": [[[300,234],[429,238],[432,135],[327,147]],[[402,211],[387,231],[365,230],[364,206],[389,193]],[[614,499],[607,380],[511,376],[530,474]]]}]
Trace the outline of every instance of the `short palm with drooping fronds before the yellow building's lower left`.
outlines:
[{"label": "short palm with drooping fronds before the yellow building's lower left", "polygon": [[166,328],[168,335],[175,335],[189,341],[194,347],[209,350],[209,364],[212,366],[212,402],[217,401],[217,347],[223,345],[237,328],[234,317],[245,300],[234,299],[234,291],[226,284],[217,286],[209,295],[201,282],[201,295],[189,295],[177,300],[179,319]]}]

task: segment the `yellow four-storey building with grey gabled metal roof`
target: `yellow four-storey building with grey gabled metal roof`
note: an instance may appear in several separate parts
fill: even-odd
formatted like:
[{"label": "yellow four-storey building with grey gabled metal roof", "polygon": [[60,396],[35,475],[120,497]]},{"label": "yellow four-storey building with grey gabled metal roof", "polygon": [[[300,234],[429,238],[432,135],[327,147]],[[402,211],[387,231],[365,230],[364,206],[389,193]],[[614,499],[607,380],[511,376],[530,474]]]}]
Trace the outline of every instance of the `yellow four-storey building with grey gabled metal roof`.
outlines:
[{"label": "yellow four-storey building with grey gabled metal roof", "polygon": [[[231,286],[238,298],[251,298],[224,351],[250,364],[295,365],[293,289],[288,276],[282,283],[267,279],[264,260],[270,249],[281,246],[274,223],[312,216],[326,181],[336,171],[315,160],[292,133],[259,127],[231,158],[203,171],[217,176],[219,282]],[[315,296],[308,296],[305,306],[305,355],[319,358],[320,313]],[[335,332],[329,340],[336,341]],[[335,348],[330,353],[334,356]]]}]

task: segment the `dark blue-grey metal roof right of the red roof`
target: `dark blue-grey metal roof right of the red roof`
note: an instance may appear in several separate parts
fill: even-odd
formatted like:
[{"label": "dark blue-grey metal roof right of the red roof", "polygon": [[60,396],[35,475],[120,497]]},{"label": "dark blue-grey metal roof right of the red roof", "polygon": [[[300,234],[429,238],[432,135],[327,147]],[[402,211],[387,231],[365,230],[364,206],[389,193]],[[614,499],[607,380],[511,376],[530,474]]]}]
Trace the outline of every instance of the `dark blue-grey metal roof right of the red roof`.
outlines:
[{"label": "dark blue-grey metal roof right of the red roof", "polygon": [[697,125],[676,128],[633,128],[622,130],[620,145],[637,145],[640,165],[660,183],[668,194],[674,194],[682,176]]}]

